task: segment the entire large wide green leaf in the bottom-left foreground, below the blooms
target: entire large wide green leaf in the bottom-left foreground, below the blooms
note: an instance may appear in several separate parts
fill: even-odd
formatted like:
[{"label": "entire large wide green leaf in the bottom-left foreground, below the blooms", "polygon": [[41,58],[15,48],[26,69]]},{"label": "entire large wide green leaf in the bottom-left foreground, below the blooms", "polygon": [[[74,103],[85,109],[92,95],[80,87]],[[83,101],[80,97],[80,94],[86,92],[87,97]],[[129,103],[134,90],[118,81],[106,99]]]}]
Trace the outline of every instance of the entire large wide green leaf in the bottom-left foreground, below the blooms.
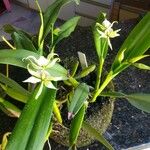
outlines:
[{"label": "entire large wide green leaf in the bottom-left foreground, below the blooms", "polygon": [[42,150],[48,132],[56,91],[39,85],[27,102],[10,136],[6,150]]}]

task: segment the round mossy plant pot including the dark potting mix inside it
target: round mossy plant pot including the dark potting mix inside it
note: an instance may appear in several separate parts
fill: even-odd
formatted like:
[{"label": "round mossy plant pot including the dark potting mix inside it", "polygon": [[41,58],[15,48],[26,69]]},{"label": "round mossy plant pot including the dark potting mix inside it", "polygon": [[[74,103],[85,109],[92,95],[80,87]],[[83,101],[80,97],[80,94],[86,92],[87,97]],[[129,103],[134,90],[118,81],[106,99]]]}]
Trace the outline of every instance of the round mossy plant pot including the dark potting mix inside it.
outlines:
[{"label": "round mossy plant pot including the dark potting mix inside it", "polygon": [[[107,90],[114,90],[112,82],[107,86]],[[99,97],[96,102],[89,104],[84,121],[99,131],[100,134],[103,134],[111,122],[113,110],[114,99]],[[59,144],[69,146],[69,128],[62,124],[55,123],[50,138]],[[77,147],[87,146],[92,142],[94,142],[94,138],[82,128],[77,139]]]}]

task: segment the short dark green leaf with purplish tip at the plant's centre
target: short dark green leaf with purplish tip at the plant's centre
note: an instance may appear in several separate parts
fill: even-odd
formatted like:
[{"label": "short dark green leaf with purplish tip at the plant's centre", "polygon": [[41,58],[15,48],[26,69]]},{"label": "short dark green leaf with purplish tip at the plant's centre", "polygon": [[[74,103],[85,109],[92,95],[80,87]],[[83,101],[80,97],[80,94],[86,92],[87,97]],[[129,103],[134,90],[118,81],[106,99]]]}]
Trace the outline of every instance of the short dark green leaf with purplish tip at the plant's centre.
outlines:
[{"label": "short dark green leaf with purplish tip at the plant's centre", "polygon": [[85,83],[81,83],[77,86],[74,91],[72,98],[70,99],[71,103],[68,108],[68,118],[72,118],[78,113],[80,108],[86,102],[89,94],[89,87]]}]

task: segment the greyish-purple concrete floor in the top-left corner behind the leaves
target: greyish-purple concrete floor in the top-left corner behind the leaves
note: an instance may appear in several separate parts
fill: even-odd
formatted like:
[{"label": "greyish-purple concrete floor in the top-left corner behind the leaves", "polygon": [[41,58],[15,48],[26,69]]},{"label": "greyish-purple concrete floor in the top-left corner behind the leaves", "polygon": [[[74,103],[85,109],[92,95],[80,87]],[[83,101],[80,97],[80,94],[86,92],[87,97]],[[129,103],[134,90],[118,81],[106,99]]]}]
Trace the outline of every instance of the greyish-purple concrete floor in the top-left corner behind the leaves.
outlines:
[{"label": "greyish-purple concrete floor in the top-left corner behind the leaves", "polygon": [[1,36],[10,39],[10,36],[3,31],[5,24],[14,25],[30,33],[37,33],[40,24],[38,13],[16,4],[11,5],[11,12],[5,11],[0,15],[0,41],[2,40]]}]

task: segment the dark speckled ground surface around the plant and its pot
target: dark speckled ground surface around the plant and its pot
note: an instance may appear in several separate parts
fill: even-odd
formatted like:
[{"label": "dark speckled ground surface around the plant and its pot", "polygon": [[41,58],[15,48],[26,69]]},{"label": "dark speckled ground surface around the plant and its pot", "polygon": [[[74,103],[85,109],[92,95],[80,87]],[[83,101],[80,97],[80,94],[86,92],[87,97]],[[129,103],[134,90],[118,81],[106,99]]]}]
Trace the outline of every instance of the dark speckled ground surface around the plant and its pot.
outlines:
[{"label": "dark speckled ground surface around the plant and its pot", "polygon": [[[106,68],[109,70],[110,64],[114,59],[119,47],[134,27],[135,22],[119,23],[117,28],[121,28],[121,36],[112,41],[113,50],[109,51]],[[90,28],[78,27],[68,38],[63,40],[57,47],[60,58],[68,56],[77,57],[77,51],[86,53],[87,60],[96,61],[95,49]],[[150,65],[149,59],[144,60]],[[116,91],[125,93],[150,91],[150,71],[141,71],[130,67],[122,72],[114,80]],[[14,120],[0,113],[0,137],[4,131],[9,131],[14,125]],[[134,108],[124,99],[118,99],[115,103],[115,111],[105,137],[112,143],[116,150],[128,148],[142,143],[150,142],[150,114]],[[53,140],[50,141],[52,150],[67,150]],[[46,149],[48,149],[46,144]],[[80,150],[104,150],[98,142],[94,142],[88,147]]]}]

